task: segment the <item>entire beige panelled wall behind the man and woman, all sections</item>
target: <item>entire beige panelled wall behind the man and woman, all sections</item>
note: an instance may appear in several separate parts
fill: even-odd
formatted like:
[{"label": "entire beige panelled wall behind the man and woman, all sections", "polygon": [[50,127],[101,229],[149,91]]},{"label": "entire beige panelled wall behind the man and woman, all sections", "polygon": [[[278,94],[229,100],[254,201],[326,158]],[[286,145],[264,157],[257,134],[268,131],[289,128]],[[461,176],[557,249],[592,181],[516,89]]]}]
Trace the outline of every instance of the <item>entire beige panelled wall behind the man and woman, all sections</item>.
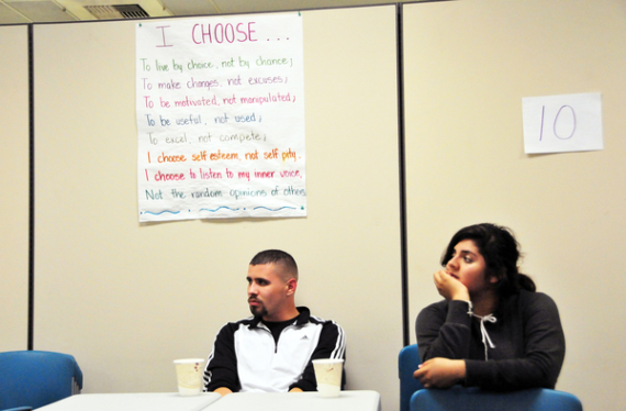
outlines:
[{"label": "entire beige panelled wall behind the man and woman, all sections", "polygon": [[[247,315],[247,262],[281,247],[301,266],[299,303],[346,329],[348,388],[398,409],[394,9],[302,15],[310,214],[286,220],[138,224],[134,23],[34,26],[34,343],[74,354],[85,392],[172,390],[171,359],[206,356],[217,329]],[[404,31],[410,318],[438,299],[431,275],[455,231],[508,225],[561,311],[557,388],[586,410],[622,408],[623,2],[410,4]],[[0,38],[0,349],[24,349],[26,27]],[[578,92],[602,93],[605,148],[525,155],[522,98]]]}]

